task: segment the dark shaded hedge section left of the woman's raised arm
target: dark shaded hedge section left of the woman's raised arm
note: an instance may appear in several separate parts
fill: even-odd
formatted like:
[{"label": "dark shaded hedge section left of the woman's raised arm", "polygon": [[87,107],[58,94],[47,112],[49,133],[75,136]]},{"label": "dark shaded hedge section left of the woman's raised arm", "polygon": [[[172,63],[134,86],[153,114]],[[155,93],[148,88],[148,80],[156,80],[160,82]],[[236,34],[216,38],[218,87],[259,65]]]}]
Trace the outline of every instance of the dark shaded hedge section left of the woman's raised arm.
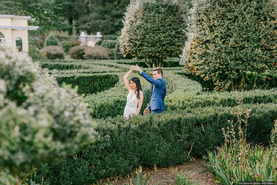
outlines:
[{"label": "dark shaded hedge section left of the woman's raised arm", "polygon": [[72,84],[72,87],[78,86],[78,94],[93,94],[107,90],[116,83],[118,77],[115,74],[68,74],[68,75],[55,75],[59,85],[63,83]]}]

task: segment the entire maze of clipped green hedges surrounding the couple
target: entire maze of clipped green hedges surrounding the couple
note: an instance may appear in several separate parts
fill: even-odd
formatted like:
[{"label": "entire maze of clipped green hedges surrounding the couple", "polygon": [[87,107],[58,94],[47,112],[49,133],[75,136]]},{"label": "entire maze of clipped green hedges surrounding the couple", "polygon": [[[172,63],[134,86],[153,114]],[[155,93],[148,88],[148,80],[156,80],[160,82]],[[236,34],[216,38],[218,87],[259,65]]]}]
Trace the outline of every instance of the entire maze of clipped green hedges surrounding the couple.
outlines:
[{"label": "entire maze of clipped green hedges surrounding the couple", "polygon": [[[134,60],[41,61],[43,68],[57,77],[59,84],[78,85],[87,94],[87,103],[96,132],[94,140],[74,156],[57,163],[42,163],[31,174],[36,181],[47,177],[49,184],[93,184],[100,179],[126,175],[140,165],[171,166],[187,162],[191,156],[207,154],[224,141],[222,128],[237,120],[239,109],[250,111],[247,141],[269,145],[277,118],[275,76],[258,80],[248,73],[248,91],[211,92],[204,81],[191,77],[178,59],[166,60],[163,68],[167,85],[166,111],[158,115],[123,118],[128,91],[123,76]],[[151,75],[151,70],[144,68]],[[137,72],[144,91],[142,111],[149,105],[151,84]],[[206,82],[207,87],[212,85]],[[259,90],[250,90],[260,88]],[[141,112],[142,112],[141,111]],[[242,125],[245,129],[245,125]],[[190,151],[191,150],[191,151]]]}]

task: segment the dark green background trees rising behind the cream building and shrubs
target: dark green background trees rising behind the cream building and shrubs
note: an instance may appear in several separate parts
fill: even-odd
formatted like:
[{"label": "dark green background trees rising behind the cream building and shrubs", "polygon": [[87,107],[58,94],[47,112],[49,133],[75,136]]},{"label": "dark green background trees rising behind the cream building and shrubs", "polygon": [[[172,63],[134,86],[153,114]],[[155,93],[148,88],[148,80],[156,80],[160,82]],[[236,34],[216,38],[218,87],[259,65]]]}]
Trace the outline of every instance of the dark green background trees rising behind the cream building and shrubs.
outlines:
[{"label": "dark green background trees rising behind the cream building and shrubs", "polygon": [[129,0],[5,0],[0,14],[32,16],[31,25],[39,32],[62,30],[70,35],[85,30],[88,34],[117,34],[123,27],[122,16]]}]

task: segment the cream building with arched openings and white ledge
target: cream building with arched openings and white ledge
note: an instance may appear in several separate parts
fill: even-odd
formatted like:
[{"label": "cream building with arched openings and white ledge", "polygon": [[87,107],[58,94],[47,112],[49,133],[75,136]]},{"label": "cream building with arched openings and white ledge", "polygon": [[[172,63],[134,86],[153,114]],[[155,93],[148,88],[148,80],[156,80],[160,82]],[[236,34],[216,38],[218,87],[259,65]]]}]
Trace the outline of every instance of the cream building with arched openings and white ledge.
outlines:
[{"label": "cream building with arched openings and white ledge", "polygon": [[[0,15],[0,32],[6,46],[16,49],[16,39],[22,39],[22,50],[28,51],[28,30],[36,30],[38,26],[28,26],[31,16]],[[0,36],[1,37],[1,36]]]}]

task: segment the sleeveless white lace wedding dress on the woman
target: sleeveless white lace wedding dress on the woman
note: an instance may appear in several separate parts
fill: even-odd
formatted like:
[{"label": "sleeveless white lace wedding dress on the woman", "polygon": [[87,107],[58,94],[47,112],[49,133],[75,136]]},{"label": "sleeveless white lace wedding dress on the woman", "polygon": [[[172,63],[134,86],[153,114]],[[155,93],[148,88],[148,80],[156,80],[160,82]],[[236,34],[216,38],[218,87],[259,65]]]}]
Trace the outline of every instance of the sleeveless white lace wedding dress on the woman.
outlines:
[{"label": "sleeveless white lace wedding dress on the woman", "polygon": [[[127,95],[127,104],[124,109],[124,117],[129,117],[133,116],[136,114],[136,111],[138,110],[138,104],[139,104],[139,99],[136,97],[136,94],[133,95],[131,98],[131,94],[133,92],[133,89],[130,90],[129,94]],[[142,91],[140,91],[141,93]]]}]

